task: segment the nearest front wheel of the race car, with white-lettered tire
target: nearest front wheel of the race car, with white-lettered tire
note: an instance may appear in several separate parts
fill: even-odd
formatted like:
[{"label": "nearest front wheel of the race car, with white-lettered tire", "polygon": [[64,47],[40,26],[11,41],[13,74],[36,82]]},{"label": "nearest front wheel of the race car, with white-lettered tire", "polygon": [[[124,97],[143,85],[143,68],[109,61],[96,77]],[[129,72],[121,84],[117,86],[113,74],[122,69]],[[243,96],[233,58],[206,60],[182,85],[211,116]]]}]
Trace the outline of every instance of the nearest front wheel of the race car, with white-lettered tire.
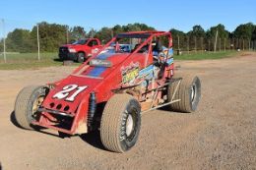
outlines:
[{"label": "nearest front wheel of the race car, with white-lettered tire", "polygon": [[141,128],[140,103],[129,94],[115,94],[106,103],[100,122],[105,148],[125,152],[137,142]]}]

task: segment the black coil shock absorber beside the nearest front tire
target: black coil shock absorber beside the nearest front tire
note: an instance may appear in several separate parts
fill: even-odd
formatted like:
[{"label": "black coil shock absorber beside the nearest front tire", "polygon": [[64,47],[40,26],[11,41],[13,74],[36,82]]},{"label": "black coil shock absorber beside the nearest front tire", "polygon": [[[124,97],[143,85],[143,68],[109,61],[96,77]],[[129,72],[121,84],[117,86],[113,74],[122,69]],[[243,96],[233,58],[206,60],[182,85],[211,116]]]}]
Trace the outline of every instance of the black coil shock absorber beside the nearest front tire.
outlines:
[{"label": "black coil shock absorber beside the nearest front tire", "polygon": [[93,129],[94,117],[96,114],[96,92],[91,92],[89,99],[88,127]]}]

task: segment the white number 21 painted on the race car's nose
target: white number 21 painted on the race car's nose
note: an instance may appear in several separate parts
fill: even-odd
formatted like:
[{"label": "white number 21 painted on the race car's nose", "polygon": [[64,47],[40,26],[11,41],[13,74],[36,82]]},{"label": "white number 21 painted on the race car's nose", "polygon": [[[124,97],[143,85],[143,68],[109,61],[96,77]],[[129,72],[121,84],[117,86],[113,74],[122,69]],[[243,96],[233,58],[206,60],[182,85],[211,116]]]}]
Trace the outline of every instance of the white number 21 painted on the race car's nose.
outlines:
[{"label": "white number 21 painted on the race car's nose", "polygon": [[[84,89],[86,89],[88,86],[79,86],[79,85],[66,85],[62,88],[61,91],[55,93],[53,95],[53,98],[63,99],[65,98],[66,101],[74,101],[76,96],[82,92]],[[72,93],[72,91],[74,91]],[[72,93],[70,95],[70,93]]]}]

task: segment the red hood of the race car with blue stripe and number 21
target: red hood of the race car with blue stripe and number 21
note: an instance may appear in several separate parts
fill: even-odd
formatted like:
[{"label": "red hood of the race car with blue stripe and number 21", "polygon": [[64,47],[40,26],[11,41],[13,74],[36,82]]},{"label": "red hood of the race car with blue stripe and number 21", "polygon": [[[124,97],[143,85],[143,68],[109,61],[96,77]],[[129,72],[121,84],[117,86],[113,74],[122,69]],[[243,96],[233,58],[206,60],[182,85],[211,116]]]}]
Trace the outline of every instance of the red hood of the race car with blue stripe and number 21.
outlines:
[{"label": "red hood of the race car with blue stripe and number 21", "polygon": [[[88,67],[79,75],[70,75],[66,79],[55,83],[42,103],[42,107],[51,110],[58,110],[75,115],[78,107],[83,102],[88,102],[90,94],[98,92],[97,87],[102,85],[104,78],[110,74],[118,74],[113,72],[118,64],[125,60],[129,54],[104,54],[97,55],[96,59],[108,60],[112,63],[112,67]],[[119,70],[119,72],[121,72]],[[118,75],[120,75],[119,73]],[[80,91],[80,89],[83,89]],[[77,93],[76,93],[77,92]],[[73,100],[70,99],[71,96]],[[68,108],[68,109],[67,109]]]}]

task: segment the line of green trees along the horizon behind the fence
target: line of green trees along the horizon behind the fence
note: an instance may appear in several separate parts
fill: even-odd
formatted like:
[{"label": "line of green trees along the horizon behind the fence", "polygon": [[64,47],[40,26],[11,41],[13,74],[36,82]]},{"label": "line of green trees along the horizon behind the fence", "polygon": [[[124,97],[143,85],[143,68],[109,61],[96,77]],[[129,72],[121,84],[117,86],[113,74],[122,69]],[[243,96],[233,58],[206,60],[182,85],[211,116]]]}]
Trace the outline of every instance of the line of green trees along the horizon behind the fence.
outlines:
[{"label": "line of green trees along the horizon behind the fence", "polygon": [[[92,28],[87,32],[85,28],[80,26],[70,28],[66,25],[41,22],[37,26],[34,26],[32,30],[15,28],[13,31],[9,32],[6,37],[6,50],[8,52],[35,52],[37,50],[37,27],[40,51],[42,52],[57,51],[61,44],[72,43],[78,39],[86,37],[96,37],[99,38],[102,43],[106,43],[112,36],[120,32],[156,30],[156,28],[145,24],[135,23],[125,26],[116,25],[112,28],[104,27],[99,30]],[[196,25],[188,32],[184,32],[176,28],[171,28],[169,31],[172,33],[173,44],[176,49],[189,49],[191,47],[197,48],[198,44],[204,44],[204,46],[201,45],[198,48],[210,48],[209,50],[213,50],[215,40],[217,40],[217,30],[218,40],[233,39],[233,42],[227,42],[229,43],[228,45],[230,45],[230,43],[235,43],[236,39],[243,39],[247,41],[256,40],[256,25],[252,23],[239,25],[232,32],[226,30],[222,24],[207,30],[202,28],[200,25]],[[0,40],[0,43],[0,51],[3,51],[3,39]]]}]

